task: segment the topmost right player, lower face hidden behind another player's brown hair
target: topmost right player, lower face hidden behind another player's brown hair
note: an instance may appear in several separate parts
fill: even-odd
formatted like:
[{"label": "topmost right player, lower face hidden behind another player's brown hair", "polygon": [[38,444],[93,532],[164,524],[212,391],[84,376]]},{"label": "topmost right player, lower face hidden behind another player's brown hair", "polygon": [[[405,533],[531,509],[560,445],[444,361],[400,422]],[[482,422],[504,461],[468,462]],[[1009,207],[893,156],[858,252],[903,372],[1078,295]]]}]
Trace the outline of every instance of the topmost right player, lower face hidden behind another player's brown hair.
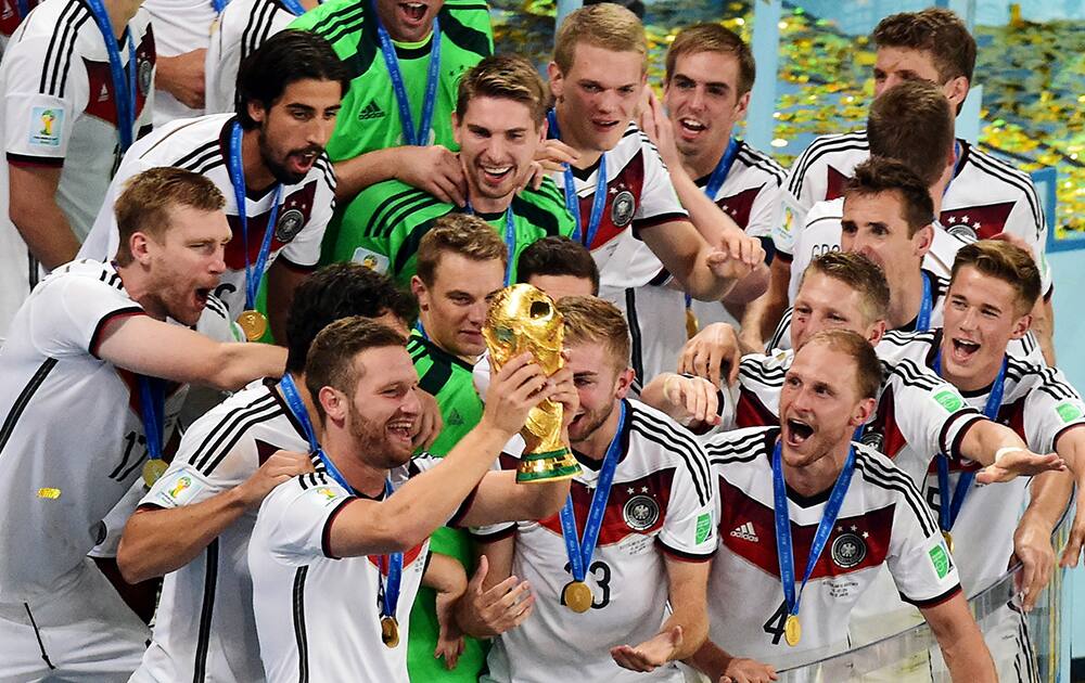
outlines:
[{"label": "topmost right player, lower face hidden behind another player's brown hair", "polygon": [[[883,18],[873,30],[877,61],[873,67],[875,96],[907,80],[937,85],[959,113],[968,95],[975,66],[975,40],[965,23],[948,10],[927,9]],[[795,160],[784,184],[784,205],[790,222],[803,225],[806,212],[822,199],[840,196],[844,180],[868,155],[865,131],[822,136]],[[1044,256],[1047,223],[1032,180],[1005,162],[957,139],[954,175],[939,216],[946,228],[957,228],[978,237],[1006,232],[1020,237],[1033,250],[1044,281],[1045,302],[1037,336],[1045,357],[1054,362],[1050,326],[1050,272]],[[782,244],[786,247],[787,239]],[[781,245],[778,244],[778,247]],[[787,281],[782,269],[774,278]]]}]

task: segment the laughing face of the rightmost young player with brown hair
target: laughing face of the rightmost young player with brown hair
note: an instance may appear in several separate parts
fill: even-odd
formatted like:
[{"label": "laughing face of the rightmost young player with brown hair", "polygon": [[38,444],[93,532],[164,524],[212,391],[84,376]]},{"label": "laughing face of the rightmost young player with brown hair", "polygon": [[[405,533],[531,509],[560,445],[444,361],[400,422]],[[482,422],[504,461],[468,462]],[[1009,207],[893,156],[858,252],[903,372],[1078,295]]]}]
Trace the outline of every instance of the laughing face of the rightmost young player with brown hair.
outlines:
[{"label": "laughing face of the rightmost young player with brown hair", "polygon": [[942,368],[965,390],[994,381],[1006,345],[1029,332],[1032,315],[1021,311],[1013,286],[972,266],[957,271],[946,295]]}]

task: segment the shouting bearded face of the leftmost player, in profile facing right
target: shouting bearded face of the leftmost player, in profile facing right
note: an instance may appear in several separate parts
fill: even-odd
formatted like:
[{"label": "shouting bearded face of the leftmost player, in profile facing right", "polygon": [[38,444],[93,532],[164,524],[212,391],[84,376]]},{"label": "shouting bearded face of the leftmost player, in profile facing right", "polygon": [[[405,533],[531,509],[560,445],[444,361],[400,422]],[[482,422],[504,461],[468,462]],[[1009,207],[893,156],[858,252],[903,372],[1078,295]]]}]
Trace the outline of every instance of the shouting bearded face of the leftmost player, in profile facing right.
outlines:
[{"label": "shouting bearded face of the leftmost player, in profile facing right", "polygon": [[148,267],[148,308],[194,325],[226,271],[224,255],[232,233],[220,210],[174,206],[169,216],[161,242],[145,233],[132,235],[133,253]]}]

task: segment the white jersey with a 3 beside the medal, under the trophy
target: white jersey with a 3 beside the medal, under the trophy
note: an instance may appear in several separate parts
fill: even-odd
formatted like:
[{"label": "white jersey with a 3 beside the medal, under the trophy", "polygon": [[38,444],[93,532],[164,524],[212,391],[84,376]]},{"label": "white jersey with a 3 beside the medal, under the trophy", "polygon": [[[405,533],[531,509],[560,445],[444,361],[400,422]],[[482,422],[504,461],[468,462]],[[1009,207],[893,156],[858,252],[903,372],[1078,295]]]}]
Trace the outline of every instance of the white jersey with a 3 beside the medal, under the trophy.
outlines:
[{"label": "white jersey with a 3 beside the medal, under the trophy", "polygon": [[[638,401],[626,401],[620,438],[622,456],[586,577],[591,609],[576,614],[561,605],[572,575],[559,515],[516,524],[512,572],[531,582],[535,611],[494,643],[492,680],[682,680],[673,665],[651,674],[622,669],[610,648],[637,645],[659,632],[667,601],[663,553],[690,562],[713,556],[716,503],[707,462],[692,435]],[[578,534],[601,465],[579,461],[583,473],[571,489]]]}]

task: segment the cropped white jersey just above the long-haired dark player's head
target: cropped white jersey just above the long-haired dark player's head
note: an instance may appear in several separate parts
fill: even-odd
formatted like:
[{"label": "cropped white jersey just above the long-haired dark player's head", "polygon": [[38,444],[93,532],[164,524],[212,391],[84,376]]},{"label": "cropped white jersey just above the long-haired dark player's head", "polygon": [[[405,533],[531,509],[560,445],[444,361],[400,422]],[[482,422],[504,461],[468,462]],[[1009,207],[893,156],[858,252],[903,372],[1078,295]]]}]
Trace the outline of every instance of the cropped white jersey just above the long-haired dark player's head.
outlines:
[{"label": "cropped white jersey just above the long-haired dark player's head", "polygon": [[207,49],[204,80],[208,114],[234,112],[241,63],[295,18],[294,13],[277,0],[231,0],[226,5],[212,27]]}]

